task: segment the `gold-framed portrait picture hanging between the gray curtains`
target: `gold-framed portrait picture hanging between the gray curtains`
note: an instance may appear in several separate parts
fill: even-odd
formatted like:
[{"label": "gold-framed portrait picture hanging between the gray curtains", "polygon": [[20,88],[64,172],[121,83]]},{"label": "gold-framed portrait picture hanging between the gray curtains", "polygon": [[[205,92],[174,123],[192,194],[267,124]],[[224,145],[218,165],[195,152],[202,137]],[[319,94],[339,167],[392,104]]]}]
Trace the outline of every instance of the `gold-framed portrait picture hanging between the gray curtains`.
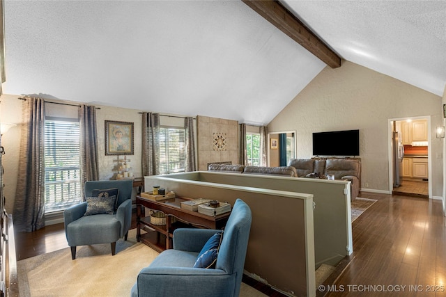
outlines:
[{"label": "gold-framed portrait picture hanging between the gray curtains", "polygon": [[105,121],[105,155],[133,154],[133,123]]}]

